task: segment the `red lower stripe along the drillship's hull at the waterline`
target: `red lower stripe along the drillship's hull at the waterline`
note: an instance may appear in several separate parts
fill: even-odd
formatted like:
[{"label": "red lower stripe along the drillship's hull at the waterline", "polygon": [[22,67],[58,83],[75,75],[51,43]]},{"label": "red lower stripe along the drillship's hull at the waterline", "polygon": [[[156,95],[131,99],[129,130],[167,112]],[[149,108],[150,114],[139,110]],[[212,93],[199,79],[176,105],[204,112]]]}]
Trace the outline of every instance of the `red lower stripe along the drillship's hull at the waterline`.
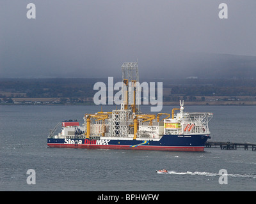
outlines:
[{"label": "red lower stripe along the drillship's hull at the waterline", "polygon": [[64,147],[64,148],[84,148],[84,149],[136,149],[136,150],[169,150],[169,151],[188,151],[188,152],[204,152],[204,147],[172,147],[172,146],[137,146],[131,145],[74,145],[47,143],[49,147]]}]

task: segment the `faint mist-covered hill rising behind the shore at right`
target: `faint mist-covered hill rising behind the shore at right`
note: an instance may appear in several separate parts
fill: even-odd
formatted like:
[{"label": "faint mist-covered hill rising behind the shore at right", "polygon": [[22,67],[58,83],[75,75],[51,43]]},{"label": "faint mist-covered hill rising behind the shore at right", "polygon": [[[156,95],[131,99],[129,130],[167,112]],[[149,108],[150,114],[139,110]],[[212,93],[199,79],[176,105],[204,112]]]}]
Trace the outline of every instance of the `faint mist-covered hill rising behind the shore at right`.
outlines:
[{"label": "faint mist-covered hill rising behind the shore at right", "polygon": [[154,73],[156,78],[256,78],[254,56],[183,53],[170,58],[173,58],[172,65],[166,64],[165,68],[157,71],[148,70],[145,76],[151,77]]}]

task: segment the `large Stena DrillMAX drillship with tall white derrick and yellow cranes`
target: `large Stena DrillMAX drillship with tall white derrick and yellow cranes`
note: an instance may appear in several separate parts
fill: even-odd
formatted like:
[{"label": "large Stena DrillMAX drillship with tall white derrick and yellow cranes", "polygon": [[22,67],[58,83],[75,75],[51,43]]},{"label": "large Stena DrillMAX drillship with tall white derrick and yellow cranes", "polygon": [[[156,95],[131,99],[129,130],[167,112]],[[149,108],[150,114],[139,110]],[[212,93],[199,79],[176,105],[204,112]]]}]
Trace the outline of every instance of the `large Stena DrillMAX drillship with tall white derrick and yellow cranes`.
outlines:
[{"label": "large Stena DrillMAX drillship with tall white derrick and yellow cranes", "polygon": [[[173,108],[172,113],[141,113],[134,99],[140,93],[137,62],[122,65],[122,82],[126,87],[122,89],[124,99],[119,110],[86,113],[81,125],[77,120],[64,120],[50,130],[47,145],[87,149],[204,151],[205,142],[211,138],[208,124],[212,113],[184,112],[184,101],[180,101],[180,108]],[[131,99],[130,95],[134,98]],[[61,126],[61,133],[54,135],[58,126]]]}]

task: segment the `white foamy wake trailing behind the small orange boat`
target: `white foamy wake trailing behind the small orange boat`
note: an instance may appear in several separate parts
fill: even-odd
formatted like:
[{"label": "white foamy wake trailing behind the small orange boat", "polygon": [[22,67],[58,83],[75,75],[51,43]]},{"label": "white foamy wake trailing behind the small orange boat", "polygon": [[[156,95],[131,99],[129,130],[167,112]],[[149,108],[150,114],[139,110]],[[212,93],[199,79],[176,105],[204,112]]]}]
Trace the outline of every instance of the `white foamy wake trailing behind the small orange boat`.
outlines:
[{"label": "white foamy wake trailing behind the small orange boat", "polygon": [[[161,171],[157,171],[157,173],[164,173]],[[206,177],[220,177],[222,174],[219,173],[210,173],[210,172],[200,172],[200,171],[186,171],[186,172],[177,172],[177,171],[168,171],[166,172],[168,174],[173,174],[173,175],[200,175],[200,176],[206,176]],[[244,178],[253,178],[256,179],[256,175],[250,175],[250,174],[227,174],[228,177],[244,177]]]}]

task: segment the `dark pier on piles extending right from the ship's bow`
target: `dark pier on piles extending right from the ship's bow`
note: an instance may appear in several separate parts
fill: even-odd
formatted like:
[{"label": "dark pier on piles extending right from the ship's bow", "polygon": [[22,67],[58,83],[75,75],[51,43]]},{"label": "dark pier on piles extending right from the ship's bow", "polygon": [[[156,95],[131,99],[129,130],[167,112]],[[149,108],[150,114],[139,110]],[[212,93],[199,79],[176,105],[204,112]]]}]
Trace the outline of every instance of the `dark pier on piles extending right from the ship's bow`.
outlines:
[{"label": "dark pier on piles extending right from the ship's bow", "polygon": [[244,150],[252,149],[256,151],[256,143],[239,143],[239,142],[206,142],[206,148],[220,147],[225,150],[236,150],[237,148],[244,148]]}]

